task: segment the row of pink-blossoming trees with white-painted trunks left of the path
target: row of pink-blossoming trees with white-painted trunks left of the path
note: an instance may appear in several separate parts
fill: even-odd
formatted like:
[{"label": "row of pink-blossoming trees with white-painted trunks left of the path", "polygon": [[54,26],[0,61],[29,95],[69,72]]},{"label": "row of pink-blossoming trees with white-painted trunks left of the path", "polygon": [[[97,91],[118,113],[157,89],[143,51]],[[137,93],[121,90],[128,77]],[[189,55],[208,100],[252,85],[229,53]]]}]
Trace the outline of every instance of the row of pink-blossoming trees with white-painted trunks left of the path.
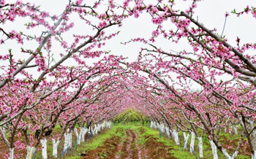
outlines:
[{"label": "row of pink-blossoming trees with white-painted trunks left of the path", "polygon": [[[123,58],[106,55],[108,52],[99,47],[118,34],[118,31],[108,33],[107,30],[120,26],[125,13],[112,2],[104,7],[101,2],[86,5],[82,1],[69,1],[57,16],[35,4],[1,1],[1,45],[8,47],[12,42],[18,42],[0,56],[3,63],[0,133],[9,149],[9,152],[2,152],[4,157],[18,157],[20,154],[15,150],[26,148],[26,158],[31,159],[42,144],[42,158],[48,158],[48,136],[56,125],[61,125],[61,134],[52,136],[53,156],[57,158],[57,148],[63,138],[65,151],[72,144],[72,132],[84,140],[86,131],[97,133],[109,125],[106,121],[122,110],[112,109],[117,101],[109,94],[118,88],[116,78],[119,73],[125,72],[117,62]],[[80,22],[72,21],[72,16],[89,29],[86,34],[75,34],[72,28]],[[29,21],[25,31],[4,28],[4,24],[20,19]],[[35,28],[42,31],[32,35]],[[38,46],[34,47],[34,44]],[[103,58],[92,65],[87,63],[89,58],[99,56]],[[79,134],[75,125],[80,125]]]}]

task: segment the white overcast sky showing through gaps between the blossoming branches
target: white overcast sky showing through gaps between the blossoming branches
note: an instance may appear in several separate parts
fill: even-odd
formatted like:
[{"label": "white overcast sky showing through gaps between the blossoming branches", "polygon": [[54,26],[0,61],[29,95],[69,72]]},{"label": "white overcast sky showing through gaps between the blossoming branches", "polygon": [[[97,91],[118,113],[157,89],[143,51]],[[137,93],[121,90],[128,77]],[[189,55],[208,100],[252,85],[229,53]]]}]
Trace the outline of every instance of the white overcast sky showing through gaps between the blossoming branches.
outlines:
[{"label": "white overcast sky showing through gaps between the blossoming branches", "polygon": [[[14,0],[6,0],[8,3],[14,2]],[[30,0],[31,4],[40,5],[42,10],[50,12],[50,15],[60,15],[63,12],[65,6],[67,5],[69,0]],[[148,0],[149,2],[150,0]],[[188,8],[188,4],[191,4],[191,1],[187,3],[187,1],[176,0],[176,7],[174,9],[184,10]],[[27,2],[27,0],[23,0],[23,2]],[[91,0],[85,0],[86,4],[91,3]],[[106,3],[103,2],[103,4]],[[199,1],[197,3],[197,9],[195,9],[194,18],[200,23],[203,23],[209,29],[217,28],[217,32],[221,34],[224,22],[225,22],[225,13],[231,12],[233,9],[236,11],[242,11],[246,5],[256,7],[255,0],[205,0]],[[87,34],[90,33],[90,29],[86,28],[85,25],[79,20],[78,16],[71,17],[72,21],[79,21],[75,23],[75,27],[72,28],[70,34],[65,34],[64,38],[69,39],[72,38],[72,34]],[[24,23],[29,22],[29,19],[18,18],[14,23],[6,23],[1,24],[1,28],[4,28],[7,32],[12,31],[12,29],[26,31],[26,26]],[[143,47],[143,44],[121,44],[121,42],[127,42],[129,39],[133,39],[136,37],[144,37],[146,39],[151,37],[151,31],[156,29],[157,26],[151,23],[151,18],[148,14],[143,13],[140,15],[140,18],[128,18],[124,20],[123,26],[121,28],[113,27],[108,31],[121,31],[121,33],[113,39],[110,39],[105,47],[102,47],[102,50],[111,50],[111,53],[114,55],[123,55],[127,57],[127,61],[132,62],[135,61],[138,57],[138,52],[140,51],[140,47]],[[166,26],[167,28],[169,26]],[[173,26],[170,26],[172,28]],[[227,23],[225,26],[224,34],[226,35],[228,42],[230,44],[236,44],[236,38],[239,37],[241,39],[241,43],[246,42],[256,42],[256,19],[252,18],[252,15],[242,15],[240,18],[237,18],[236,15],[230,14],[227,18]],[[45,31],[45,30],[43,30]],[[42,28],[34,28],[29,34],[41,34]],[[2,34],[0,34],[1,39]],[[170,41],[166,41],[164,39],[158,39],[157,45],[159,45],[163,50],[170,51],[181,51],[181,50],[189,50],[189,44],[187,44],[187,40],[181,40],[180,43],[172,43]],[[15,55],[15,58],[26,59],[26,55],[20,53],[20,47],[29,48],[31,50],[35,50],[37,48],[37,43],[24,43],[23,45],[17,44],[16,42],[7,41],[6,44],[0,45],[0,55],[5,55],[7,50],[12,48],[12,52]],[[53,48],[53,52],[60,53],[61,47]],[[254,53],[255,54],[255,53]],[[94,61],[87,61],[88,63],[93,63]],[[0,63],[0,66],[5,65],[6,63]],[[70,65],[72,61],[66,61],[64,64]],[[34,76],[38,76],[38,72],[34,71]],[[1,70],[0,70],[1,74]],[[195,86],[196,88],[197,86]]]}]

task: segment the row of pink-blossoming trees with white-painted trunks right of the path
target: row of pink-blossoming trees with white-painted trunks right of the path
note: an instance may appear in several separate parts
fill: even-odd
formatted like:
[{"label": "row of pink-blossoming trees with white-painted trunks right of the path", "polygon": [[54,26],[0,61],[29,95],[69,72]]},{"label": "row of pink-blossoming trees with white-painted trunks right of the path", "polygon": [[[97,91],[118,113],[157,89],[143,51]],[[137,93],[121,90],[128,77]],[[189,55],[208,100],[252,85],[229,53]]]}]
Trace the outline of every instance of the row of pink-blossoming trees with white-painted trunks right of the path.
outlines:
[{"label": "row of pink-blossoming trees with white-painted trunks right of the path", "polygon": [[[193,1],[186,12],[176,10],[171,2],[159,2],[156,6],[138,4],[138,12],[146,9],[152,22],[157,25],[151,39],[136,38],[130,41],[148,45],[141,50],[138,61],[132,63],[132,69],[145,72],[145,77],[154,83],[150,85],[150,93],[142,93],[140,97],[148,101],[148,115],[152,122],[158,123],[158,128],[163,128],[161,124],[167,125],[176,144],[176,131],[191,133],[192,142],[197,136],[199,143],[202,143],[202,133],[199,132],[203,132],[211,142],[214,158],[218,158],[217,149],[226,158],[236,158],[246,139],[252,158],[256,158],[256,65],[255,55],[250,52],[255,50],[256,45],[240,44],[240,39],[237,39],[236,46],[227,43],[227,39],[216,30],[207,28],[193,18],[196,4],[197,1]],[[233,13],[237,16],[250,13],[255,17],[255,7]],[[168,26],[172,23],[176,28],[170,30]],[[170,42],[187,39],[191,47],[180,52],[162,50],[154,44],[158,36]],[[191,83],[197,83],[201,89],[193,90]],[[223,147],[219,141],[219,132],[230,126],[235,131],[236,127],[241,128],[241,138],[233,152],[227,152],[227,147]],[[184,138],[188,136],[184,135]],[[200,157],[203,157],[203,151]]]}]

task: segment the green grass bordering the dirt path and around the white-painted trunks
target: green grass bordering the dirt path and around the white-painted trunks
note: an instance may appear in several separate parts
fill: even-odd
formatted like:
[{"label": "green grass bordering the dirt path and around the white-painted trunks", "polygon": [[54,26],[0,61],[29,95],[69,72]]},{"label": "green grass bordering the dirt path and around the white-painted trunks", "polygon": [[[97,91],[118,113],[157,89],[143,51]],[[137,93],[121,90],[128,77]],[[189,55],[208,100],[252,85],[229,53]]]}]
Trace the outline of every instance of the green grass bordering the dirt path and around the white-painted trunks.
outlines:
[{"label": "green grass bordering the dirt path and around the white-painted trunks", "polygon": [[[68,152],[68,155],[65,159],[78,159],[80,158],[80,154],[82,152],[87,152],[89,150],[94,150],[99,146],[102,146],[102,144],[104,143],[104,141],[106,139],[110,139],[111,136],[116,135],[116,136],[120,136],[121,139],[126,139],[127,135],[125,135],[125,131],[122,133],[121,131],[118,131],[118,133],[116,133],[117,129],[121,128],[121,129],[132,129],[132,131],[136,131],[138,133],[138,144],[145,144],[146,139],[145,136],[153,136],[155,138],[158,139],[158,141],[162,142],[163,144],[165,144],[167,147],[171,147],[170,152],[173,154],[174,157],[176,158],[182,158],[182,159],[195,159],[195,155],[197,155],[197,158],[199,158],[199,150],[198,150],[198,141],[197,141],[197,137],[195,138],[195,155],[193,155],[192,153],[189,152],[189,145],[190,145],[190,137],[189,137],[189,141],[187,143],[187,150],[182,151],[182,146],[184,143],[184,138],[183,138],[183,134],[179,133],[178,135],[180,136],[179,141],[180,141],[180,145],[176,145],[176,143],[173,141],[173,139],[169,139],[166,136],[164,136],[162,134],[161,138],[159,136],[159,131],[158,130],[154,130],[149,128],[149,123],[146,123],[145,125],[142,125],[141,123],[119,123],[119,124],[113,124],[111,129],[108,129],[105,132],[99,133],[97,134],[97,136],[94,136],[91,140],[86,141],[81,143],[80,145],[78,145],[77,149],[74,150],[75,147],[75,134],[73,134],[72,137],[72,150],[70,150]],[[144,133],[140,134],[140,128],[143,128],[145,130]],[[56,129],[60,129],[56,126]],[[238,139],[239,136],[236,135],[230,135],[228,133],[220,133],[220,141],[224,141],[224,139]],[[59,145],[59,154],[61,152],[63,152],[63,144],[64,141],[61,141],[62,144]],[[48,141],[48,156],[51,156],[53,150],[52,150],[52,142],[51,140]],[[225,156],[221,154],[221,152],[218,151],[218,155],[219,155],[219,159],[225,159]],[[122,152],[118,152],[118,155],[121,155]],[[42,158],[41,157],[41,151],[39,150],[37,152],[37,158]],[[204,158],[213,158],[212,156],[212,152],[211,152],[211,146],[210,143],[205,136],[203,136],[203,156]],[[50,157],[52,158],[52,157]],[[102,158],[104,158],[104,154],[102,154]],[[239,159],[246,159],[249,158],[249,156],[244,156],[244,155],[238,155]]]}]

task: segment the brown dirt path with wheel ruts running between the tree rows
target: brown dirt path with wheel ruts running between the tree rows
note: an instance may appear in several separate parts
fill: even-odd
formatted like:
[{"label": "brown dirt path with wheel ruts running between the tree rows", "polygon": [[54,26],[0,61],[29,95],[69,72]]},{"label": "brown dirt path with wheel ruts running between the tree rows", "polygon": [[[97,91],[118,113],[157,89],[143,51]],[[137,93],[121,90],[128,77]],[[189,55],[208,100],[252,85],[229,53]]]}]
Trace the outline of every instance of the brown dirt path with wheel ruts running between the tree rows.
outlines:
[{"label": "brown dirt path with wheel ruts running between the tree rows", "polygon": [[[176,159],[170,154],[170,147],[157,141],[153,136],[143,136],[146,140],[143,144],[138,144],[142,138],[140,134],[131,129],[122,131],[121,137],[112,136],[107,139],[103,146],[87,152],[86,159]],[[140,131],[141,133],[142,131]]]}]

